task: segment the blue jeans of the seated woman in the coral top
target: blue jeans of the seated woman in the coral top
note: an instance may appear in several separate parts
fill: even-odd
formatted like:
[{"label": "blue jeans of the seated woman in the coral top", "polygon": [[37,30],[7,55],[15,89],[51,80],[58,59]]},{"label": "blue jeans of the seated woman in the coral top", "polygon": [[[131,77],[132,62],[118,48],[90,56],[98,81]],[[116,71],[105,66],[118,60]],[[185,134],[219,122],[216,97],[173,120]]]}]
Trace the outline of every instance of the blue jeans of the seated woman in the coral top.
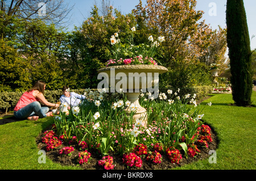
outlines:
[{"label": "blue jeans of the seated woman in the coral top", "polygon": [[24,119],[31,116],[39,116],[40,118],[43,118],[46,117],[46,113],[48,111],[48,107],[41,107],[41,104],[35,101],[23,108],[20,108],[18,111],[14,111],[14,116],[19,119]]}]

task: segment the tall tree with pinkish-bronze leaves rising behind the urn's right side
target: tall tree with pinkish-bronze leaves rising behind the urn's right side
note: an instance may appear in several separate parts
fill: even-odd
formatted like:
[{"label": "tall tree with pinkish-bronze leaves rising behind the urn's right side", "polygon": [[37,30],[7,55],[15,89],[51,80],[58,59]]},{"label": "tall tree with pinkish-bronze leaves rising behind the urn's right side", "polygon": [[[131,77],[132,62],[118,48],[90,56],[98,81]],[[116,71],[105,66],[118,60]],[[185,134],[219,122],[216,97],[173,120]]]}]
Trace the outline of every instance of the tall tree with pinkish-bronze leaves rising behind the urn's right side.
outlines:
[{"label": "tall tree with pinkish-bronze leaves rising behind the urn's right side", "polygon": [[[204,53],[211,30],[203,21],[203,12],[196,11],[195,0],[147,1],[141,10],[146,13],[147,28],[156,36],[164,36],[163,62],[175,69],[180,61],[194,61]],[[204,41],[203,41],[204,40]]]}]

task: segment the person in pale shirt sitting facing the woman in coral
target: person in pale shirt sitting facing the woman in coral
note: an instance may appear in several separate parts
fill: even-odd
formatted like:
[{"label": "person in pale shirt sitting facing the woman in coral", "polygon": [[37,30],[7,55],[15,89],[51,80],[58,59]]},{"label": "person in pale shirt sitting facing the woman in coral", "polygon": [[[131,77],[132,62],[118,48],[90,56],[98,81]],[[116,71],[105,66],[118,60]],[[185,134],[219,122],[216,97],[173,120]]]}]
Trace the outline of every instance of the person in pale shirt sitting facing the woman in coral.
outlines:
[{"label": "person in pale shirt sitting facing the woman in coral", "polygon": [[60,96],[60,102],[67,103],[68,109],[79,106],[82,100],[86,99],[86,96],[84,95],[77,94],[76,92],[70,92],[68,86],[63,86],[62,92],[63,95]]}]

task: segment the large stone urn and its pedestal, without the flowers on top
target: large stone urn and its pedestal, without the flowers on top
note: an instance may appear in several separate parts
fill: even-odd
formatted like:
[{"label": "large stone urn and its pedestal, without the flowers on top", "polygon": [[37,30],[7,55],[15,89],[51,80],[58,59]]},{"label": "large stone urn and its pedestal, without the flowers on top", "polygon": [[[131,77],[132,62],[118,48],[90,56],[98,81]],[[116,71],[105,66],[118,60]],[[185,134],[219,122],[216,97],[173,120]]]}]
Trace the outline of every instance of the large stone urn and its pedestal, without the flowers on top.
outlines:
[{"label": "large stone urn and its pedestal, without the flowers on top", "polygon": [[[119,89],[122,89],[127,96],[127,100],[131,104],[137,105],[133,120],[140,119],[144,125],[147,125],[147,112],[139,104],[139,94],[141,92],[151,92],[151,94],[157,96],[158,75],[167,71],[167,68],[159,65],[117,65],[99,69],[98,73],[107,79],[105,83],[110,86],[110,92],[118,92]],[[130,115],[130,107],[125,107],[125,111],[127,115]]]}]

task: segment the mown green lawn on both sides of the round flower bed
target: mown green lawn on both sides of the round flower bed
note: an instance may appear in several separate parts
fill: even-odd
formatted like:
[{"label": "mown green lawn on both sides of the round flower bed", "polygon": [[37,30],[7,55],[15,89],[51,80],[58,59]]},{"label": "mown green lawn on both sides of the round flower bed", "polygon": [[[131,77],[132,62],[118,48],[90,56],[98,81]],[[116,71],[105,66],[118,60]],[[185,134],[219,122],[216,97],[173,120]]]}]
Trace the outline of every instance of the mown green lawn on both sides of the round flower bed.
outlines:
[{"label": "mown green lawn on both sides of the round flower bed", "polygon": [[[256,105],[256,92],[252,100]],[[215,94],[201,103],[212,102],[206,106],[203,120],[212,125],[217,132],[220,144],[216,150],[217,163],[208,159],[198,161],[176,169],[213,169],[213,170],[254,170],[256,145],[256,107],[230,106],[233,103],[231,94]],[[18,121],[0,125],[0,169],[9,170],[55,170],[77,169],[61,166],[46,159],[46,164],[38,163],[36,137],[52,124],[51,118],[38,121]]]}]

